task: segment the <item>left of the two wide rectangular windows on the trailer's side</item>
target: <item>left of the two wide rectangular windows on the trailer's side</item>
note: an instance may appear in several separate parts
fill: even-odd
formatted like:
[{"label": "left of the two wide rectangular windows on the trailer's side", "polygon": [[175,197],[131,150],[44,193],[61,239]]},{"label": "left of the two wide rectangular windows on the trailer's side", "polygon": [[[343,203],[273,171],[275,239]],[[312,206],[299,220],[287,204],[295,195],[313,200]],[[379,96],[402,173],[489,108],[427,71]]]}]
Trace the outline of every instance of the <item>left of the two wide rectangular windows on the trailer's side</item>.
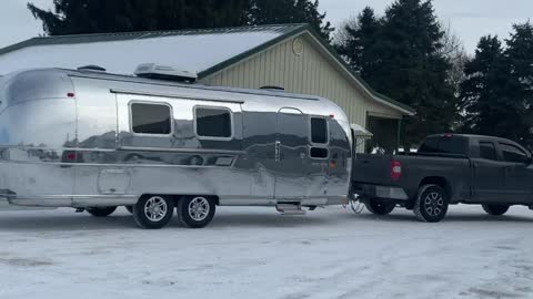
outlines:
[{"label": "left of the two wide rectangular windows on the trailer's side", "polygon": [[172,132],[170,106],[131,104],[131,128],[137,134],[169,135]]}]

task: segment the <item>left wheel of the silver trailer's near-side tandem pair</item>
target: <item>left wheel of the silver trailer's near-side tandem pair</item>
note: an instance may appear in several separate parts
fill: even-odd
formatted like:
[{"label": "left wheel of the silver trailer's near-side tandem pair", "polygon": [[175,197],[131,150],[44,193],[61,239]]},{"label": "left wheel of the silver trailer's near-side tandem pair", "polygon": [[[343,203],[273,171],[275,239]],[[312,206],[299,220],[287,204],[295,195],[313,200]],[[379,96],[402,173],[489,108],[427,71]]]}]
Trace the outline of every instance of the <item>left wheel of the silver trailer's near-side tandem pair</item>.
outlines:
[{"label": "left wheel of the silver trailer's near-side tandem pair", "polygon": [[133,206],[133,219],[142,228],[159,229],[169,224],[173,212],[174,202],[172,197],[142,196]]}]

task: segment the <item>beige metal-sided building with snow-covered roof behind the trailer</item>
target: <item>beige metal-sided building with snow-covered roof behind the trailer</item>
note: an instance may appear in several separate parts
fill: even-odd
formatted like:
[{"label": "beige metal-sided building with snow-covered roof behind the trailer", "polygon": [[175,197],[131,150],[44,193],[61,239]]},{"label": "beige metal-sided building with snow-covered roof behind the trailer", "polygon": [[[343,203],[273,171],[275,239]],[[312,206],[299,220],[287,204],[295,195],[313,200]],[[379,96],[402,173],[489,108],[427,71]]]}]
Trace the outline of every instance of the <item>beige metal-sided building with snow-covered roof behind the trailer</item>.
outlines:
[{"label": "beige metal-sided building with snow-covered roof behind the trailer", "polygon": [[33,38],[0,49],[0,75],[88,64],[132,74],[147,62],[195,72],[209,85],[279,86],[328,97],[374,134],[366,148],[394,148],[401,120],[414,114],[373,91],[306,24]]}]

